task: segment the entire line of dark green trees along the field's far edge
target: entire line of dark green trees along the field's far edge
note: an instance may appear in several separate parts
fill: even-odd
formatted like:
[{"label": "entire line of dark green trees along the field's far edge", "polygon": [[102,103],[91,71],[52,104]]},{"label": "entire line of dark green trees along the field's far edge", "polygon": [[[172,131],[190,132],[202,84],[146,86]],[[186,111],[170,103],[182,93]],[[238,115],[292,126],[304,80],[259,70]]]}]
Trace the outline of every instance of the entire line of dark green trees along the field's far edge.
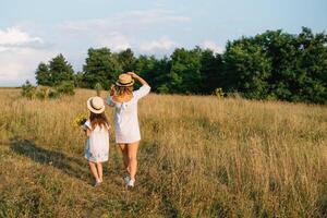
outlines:
[{"label": "entire line of dark green trees along the field's far edge", "polygon": [[74,72],[62,55],[36,70],[38,85],[71,81],[76,87],[108,89],[117,76],[135,71],[156,93],[208,95],[221,87],[251,99],[327,104],[327,35],[303,27],[300,34],[280,29],[228,41],[223,53],[177,48],[156,58],[131,49],[112,52],[89,48],[82,72]]}]

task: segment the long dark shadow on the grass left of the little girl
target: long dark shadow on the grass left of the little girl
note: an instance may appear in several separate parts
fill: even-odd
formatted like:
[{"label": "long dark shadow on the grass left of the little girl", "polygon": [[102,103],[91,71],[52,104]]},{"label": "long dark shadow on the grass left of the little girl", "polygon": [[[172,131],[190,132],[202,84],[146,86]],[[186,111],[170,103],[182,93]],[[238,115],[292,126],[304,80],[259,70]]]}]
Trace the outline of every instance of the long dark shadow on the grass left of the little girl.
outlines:
[{"label": "long dark shadow on the grass left of the little girl", "polygon": [[31,158],[35,162],[52,166],[83,181],[89,177],[87,161],[83,161],[82,158],[69,157],[60,152],[39,147],[33,141],[20,137],[13,137],[10,142],[13,152]]}]

